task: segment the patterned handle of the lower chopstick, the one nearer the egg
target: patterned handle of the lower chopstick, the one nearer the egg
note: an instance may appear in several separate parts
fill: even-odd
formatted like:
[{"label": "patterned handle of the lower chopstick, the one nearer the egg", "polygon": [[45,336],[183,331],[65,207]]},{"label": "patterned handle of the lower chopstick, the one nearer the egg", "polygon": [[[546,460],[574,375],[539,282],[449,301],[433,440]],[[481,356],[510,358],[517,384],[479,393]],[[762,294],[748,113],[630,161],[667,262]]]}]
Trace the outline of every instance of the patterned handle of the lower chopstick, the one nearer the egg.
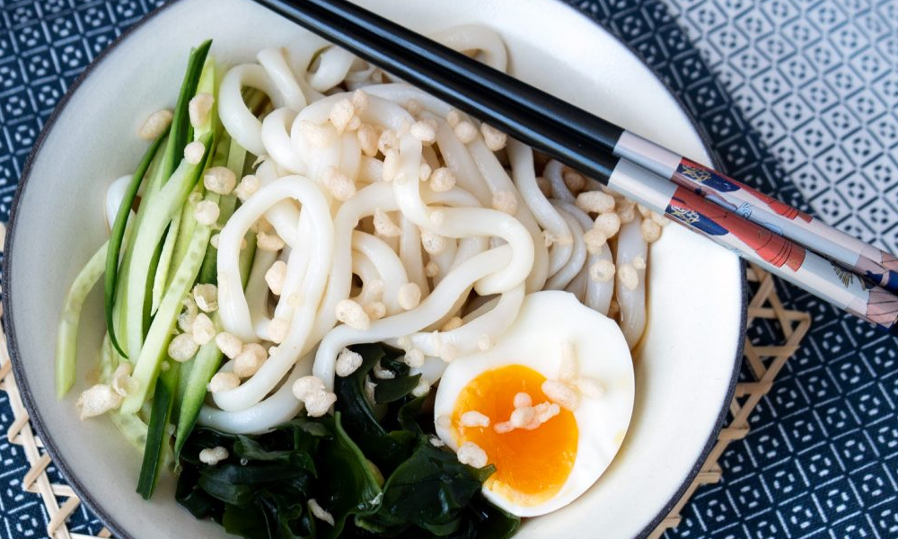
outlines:
[{"label": "patterned handle of the lower chopstick, the one nearer the egg", "polygon": [[665,181],[626,160],[614,168],[608,187],[797,287],[885,330],[898,332],[898,296],[868,285],[854,273],[693,190]]}]

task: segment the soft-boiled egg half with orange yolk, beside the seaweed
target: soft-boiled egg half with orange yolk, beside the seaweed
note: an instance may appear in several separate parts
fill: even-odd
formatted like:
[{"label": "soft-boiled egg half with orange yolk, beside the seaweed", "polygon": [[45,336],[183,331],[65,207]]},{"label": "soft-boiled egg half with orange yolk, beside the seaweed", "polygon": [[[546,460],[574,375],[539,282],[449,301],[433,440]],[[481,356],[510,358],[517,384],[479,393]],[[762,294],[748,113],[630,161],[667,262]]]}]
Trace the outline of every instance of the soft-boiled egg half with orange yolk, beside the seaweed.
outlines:
[{"label": "soft-boiled egg half with orange yolk, beside the seaweed", "polygon": [[496,467],[483,485],[491,502],[536,517],[577,499],[611,464],[633,391],[618,325],[567,292],[537,292],[493,348],[446,368],[436,433],[462,462]]}]

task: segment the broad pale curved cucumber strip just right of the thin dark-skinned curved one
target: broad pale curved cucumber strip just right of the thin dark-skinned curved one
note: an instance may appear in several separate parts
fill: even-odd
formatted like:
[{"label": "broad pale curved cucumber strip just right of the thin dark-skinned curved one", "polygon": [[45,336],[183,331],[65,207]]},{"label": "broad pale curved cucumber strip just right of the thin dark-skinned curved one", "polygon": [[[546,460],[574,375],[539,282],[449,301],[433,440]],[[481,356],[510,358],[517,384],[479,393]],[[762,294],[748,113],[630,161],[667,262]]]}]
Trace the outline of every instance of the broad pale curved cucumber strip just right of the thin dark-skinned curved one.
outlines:
[{"label": "broad pale curved cucumber strip just right of the thin dark-skinned curved one", "polygon": [[150,270],[157,246],[162,241],[165,228],[172,222],[172,218],[178,216],[190,191],[197,184],[206,168],[208,156],[214,149],[211,134],[203,137],[201,142],[207,149],[204,158],[197,164],[182,161],[162,190],[145,202],[149,206],[145,208],[144,219],[140,222],[131,247],[132,259],[126,283],[128,312],[125,331],[128,334],[128,352],[132,357],[140,353],[144,341],[145,313],[142,307],[145,305],[147,288],[152,286]]}]

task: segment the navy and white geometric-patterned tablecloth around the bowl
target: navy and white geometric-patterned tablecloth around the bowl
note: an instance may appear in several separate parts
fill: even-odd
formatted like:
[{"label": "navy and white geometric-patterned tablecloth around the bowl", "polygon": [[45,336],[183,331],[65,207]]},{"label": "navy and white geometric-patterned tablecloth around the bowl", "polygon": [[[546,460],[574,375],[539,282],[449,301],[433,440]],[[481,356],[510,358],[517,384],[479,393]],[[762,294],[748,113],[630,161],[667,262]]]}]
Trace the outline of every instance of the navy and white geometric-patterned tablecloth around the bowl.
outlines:
[{"label": "navy and white geometric-patterned tablecloth around the bowl", "polygon": [[[646,59],[727,172],[898,252],[898,0],[568,2]],[[66,87],[162,3],[0,0],[0,220]],[[898,340],[780,294],[814,317],[805,345],[666,537],[898,537]],[[12,420],[0,393],[0,432]],[[0,441],[0,539],[45,535],[25,471]],[[70,526],[100,528],[84,508]]]}]

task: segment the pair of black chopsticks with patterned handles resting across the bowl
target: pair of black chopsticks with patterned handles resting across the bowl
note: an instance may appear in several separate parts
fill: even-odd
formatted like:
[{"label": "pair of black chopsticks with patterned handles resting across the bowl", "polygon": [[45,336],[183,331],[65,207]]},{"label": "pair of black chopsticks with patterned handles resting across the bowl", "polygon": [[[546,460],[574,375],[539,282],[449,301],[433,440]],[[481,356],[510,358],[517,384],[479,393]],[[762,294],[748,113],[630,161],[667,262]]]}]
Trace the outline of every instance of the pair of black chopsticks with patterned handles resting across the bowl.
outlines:
[{"label": "pair of black chopsticks with patterned handles resting across the bowl", "polygon": [[346,0],[256,2],[780,278],[898,333],[894,255]]}]

